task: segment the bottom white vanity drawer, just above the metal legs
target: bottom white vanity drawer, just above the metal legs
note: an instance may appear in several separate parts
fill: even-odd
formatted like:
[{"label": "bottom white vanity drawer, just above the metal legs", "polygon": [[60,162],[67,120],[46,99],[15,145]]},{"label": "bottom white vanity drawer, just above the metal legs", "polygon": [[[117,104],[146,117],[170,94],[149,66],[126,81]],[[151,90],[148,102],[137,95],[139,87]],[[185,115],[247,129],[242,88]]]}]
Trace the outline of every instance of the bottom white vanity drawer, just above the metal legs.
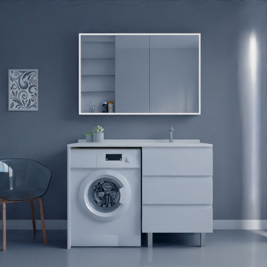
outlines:
[{"label": "bottom white vanity drawer, just above the metal legs", "polygon": [[142,205],[143,233],[212,233],[211,205]]}]

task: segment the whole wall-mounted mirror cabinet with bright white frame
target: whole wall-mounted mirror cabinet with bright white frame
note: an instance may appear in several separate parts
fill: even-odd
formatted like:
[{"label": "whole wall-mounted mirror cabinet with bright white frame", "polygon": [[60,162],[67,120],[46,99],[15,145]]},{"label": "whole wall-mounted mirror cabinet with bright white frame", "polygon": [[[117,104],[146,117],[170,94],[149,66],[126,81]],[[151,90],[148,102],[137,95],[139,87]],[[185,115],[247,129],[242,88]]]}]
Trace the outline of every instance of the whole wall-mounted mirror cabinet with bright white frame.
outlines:
[{"label": "whole wall-mounted mirror cabinet with bright white frame", "polygon": [[79,114],[200,114],[200,65],[200,34],[79,34]]}]

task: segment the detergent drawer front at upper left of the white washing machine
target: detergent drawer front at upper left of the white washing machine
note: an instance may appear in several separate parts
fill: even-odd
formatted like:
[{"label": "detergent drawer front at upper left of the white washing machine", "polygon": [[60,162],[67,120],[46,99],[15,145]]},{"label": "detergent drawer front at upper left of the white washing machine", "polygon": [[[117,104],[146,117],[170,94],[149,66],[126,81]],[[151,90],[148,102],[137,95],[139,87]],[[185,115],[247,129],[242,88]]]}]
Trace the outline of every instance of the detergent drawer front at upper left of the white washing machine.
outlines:
[{"label": "detergent drawer front at upper left of the white washing machine", "polygon": [[96,152],[92,149],[71,149],[71,168],[96,168]]}]

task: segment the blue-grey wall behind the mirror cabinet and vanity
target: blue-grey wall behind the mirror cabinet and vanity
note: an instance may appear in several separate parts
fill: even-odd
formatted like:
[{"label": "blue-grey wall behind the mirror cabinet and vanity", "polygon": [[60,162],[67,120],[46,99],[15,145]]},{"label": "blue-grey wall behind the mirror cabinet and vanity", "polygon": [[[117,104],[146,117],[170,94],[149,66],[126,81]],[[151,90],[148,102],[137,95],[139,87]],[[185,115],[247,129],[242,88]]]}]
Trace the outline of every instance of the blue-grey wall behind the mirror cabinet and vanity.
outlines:
[{"label": "blue-grey wall behind the mirror cabinet and vanity", "polygon": [[[66,219],[66,144],[96,124],[107,139],[167,139],[173,125],[175,139],[214,144],[214,219],[266,219],[266,1],[0,1],[0,25],[0,158],[32,158],[52,170],[46,219]],[[260,211],[244,215],[239,46],[252,31],[260,53]],[[201,115],[79,116],[78,33],[90,32],[201,33]],[[39,111],[8,111],[13,68],[39,69]],[[28,203],[7,206],[7,219],[30,216]]]}]

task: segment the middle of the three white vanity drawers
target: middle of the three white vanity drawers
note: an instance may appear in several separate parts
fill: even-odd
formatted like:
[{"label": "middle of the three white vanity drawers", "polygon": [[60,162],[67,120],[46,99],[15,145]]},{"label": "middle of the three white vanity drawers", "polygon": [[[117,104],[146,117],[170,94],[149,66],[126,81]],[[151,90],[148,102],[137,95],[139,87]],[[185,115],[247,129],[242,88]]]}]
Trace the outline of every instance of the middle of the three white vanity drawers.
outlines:
[{"label": "middle of the three white vanity drawers", "polygon": [[212,176],[143,176],[142,204],[212,204]]}]

